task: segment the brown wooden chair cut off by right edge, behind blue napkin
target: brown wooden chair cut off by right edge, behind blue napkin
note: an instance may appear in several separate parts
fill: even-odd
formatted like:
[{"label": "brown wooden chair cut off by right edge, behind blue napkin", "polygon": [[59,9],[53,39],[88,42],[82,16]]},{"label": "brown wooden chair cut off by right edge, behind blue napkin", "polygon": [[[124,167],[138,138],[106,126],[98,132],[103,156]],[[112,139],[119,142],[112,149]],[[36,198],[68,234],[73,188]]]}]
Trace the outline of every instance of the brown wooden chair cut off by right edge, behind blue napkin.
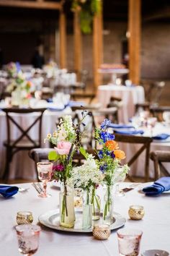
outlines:
[{"label": "brown wooden chair cut off by right edge, behind blue napkin", "polygon": [[150,158],[153,161],[156,180],[161,177],[161,174],[163,174],[164,176],[170,176],[170,172],[163,165],[163,163],[170,163],[169,151],[153,151],[150,153]]}]

